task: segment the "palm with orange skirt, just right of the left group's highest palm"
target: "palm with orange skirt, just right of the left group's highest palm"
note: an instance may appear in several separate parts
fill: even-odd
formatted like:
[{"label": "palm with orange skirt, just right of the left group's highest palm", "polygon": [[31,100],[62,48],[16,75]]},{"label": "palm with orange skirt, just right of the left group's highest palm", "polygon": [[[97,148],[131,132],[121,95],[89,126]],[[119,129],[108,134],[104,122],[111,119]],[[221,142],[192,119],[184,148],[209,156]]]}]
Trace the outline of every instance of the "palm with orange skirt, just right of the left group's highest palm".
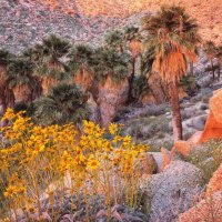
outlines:
[{"label": "palm with orange skirt, just right of the left group's highest palm", "polygon": [[75,84],[80,84],[84,92],[89,91],[94,80],[94,51],[89,46],[79,44],[69,54],[69,67],[73,72]]}]

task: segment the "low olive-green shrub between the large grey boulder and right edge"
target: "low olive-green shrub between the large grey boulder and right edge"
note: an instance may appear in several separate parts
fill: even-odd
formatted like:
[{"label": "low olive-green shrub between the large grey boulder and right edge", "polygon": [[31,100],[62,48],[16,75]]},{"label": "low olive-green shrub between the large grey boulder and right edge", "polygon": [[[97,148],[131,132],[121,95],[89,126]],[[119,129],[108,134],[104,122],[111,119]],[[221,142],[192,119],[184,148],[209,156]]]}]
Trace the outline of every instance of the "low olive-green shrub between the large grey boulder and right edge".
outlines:
[{"label": "low olive-green shrub between the large grey boulder and right edge", "polygon": [[203,147],[194,149],[188,160],[203,171],[208,182],[222,163],[222,140],[211,140]]}]

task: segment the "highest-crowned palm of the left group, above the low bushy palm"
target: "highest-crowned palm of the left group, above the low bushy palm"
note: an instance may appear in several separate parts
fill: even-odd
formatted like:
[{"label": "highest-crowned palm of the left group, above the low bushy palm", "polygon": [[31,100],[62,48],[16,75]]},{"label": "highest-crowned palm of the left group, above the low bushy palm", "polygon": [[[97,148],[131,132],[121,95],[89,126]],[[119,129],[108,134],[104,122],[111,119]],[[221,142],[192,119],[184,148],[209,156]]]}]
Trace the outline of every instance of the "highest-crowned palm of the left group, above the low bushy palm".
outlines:
[{"label": "highest-crowned palm of the left group, above the low bushy palm", "polygon": [[69,69],[64,59],[70,48],[71,46],[68,41],[54,34],[43,39],[42,44],[36,46],[34,51],[40,57],[36,73],[41,79],[42,93],[44,95],[59,81],[69,79]]}]

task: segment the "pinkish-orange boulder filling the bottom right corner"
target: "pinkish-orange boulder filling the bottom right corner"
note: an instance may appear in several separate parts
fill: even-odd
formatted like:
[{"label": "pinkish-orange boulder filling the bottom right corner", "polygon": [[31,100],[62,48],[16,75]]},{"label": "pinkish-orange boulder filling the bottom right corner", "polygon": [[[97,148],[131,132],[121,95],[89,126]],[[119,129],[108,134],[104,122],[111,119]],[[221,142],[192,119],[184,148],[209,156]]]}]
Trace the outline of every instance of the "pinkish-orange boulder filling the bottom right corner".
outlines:
[{"label": "pinkish-orange boulder filling the bottom right corner", "polygon": [[179,222],[221,222],[222,221],[222,191],[211,198],[200,201],[185,213],[180,214]]}]

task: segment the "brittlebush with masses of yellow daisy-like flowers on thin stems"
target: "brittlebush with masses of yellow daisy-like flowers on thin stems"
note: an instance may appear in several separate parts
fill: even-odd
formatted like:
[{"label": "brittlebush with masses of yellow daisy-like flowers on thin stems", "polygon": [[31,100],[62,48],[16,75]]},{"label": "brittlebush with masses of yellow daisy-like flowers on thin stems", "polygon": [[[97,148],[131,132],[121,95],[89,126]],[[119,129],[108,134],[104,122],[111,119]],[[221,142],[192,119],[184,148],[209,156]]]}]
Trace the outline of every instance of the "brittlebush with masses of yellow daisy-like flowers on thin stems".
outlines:
[{"label": "brittlebush with masses of yellow daisy-like flowers on thin stems", "polygon": [[[83,121],[80,133],[72,123],[34,125],[24,112],[11,109],[3,119],[8,125],[1,129],[0,185],[7,216],[13,212],[18,218],[22,210],[28,220],[32,213],[40,218],[42,196],[53,209],[54,196],[62,200],[67,190],[75,196],[103,194],[108,214],[112,204],[138,205],[134,162],[148,148],[121,137],[120,125],[112,123],[104,130]],[[58,212],[52,212],[52,219],[53,213]]]}]

